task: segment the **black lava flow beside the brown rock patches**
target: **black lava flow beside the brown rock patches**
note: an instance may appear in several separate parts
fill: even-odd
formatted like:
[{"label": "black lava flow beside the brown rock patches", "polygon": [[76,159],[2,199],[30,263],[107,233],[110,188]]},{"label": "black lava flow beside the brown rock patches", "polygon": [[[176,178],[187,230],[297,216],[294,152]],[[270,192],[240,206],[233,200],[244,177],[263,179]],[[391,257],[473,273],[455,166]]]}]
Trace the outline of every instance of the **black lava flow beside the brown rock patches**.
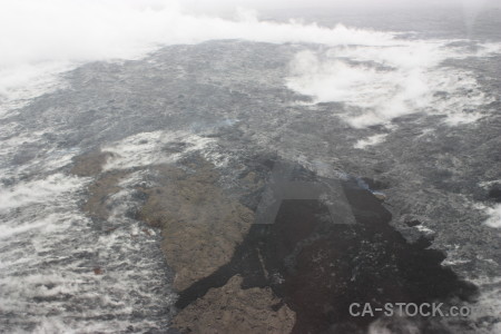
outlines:
[{"label": "black lava flow beside the brown rock patches", "polygon": [[[179,294],[184,308],[234,275],[243,288],[269,286],[296,312],[293,333],[363,333],[375,317],[353,317],[351,303],[473,301],[474,285],[441,266],[425,238],[409,244],[391,214],[356,180],[341,181],[356,224],[336,222],[320,200],[283,200],[275,224],[252,226],[232,261]],[[277,308],[281,305],[276,305]],[[449,333],[425,320],[422,333]]]}]

